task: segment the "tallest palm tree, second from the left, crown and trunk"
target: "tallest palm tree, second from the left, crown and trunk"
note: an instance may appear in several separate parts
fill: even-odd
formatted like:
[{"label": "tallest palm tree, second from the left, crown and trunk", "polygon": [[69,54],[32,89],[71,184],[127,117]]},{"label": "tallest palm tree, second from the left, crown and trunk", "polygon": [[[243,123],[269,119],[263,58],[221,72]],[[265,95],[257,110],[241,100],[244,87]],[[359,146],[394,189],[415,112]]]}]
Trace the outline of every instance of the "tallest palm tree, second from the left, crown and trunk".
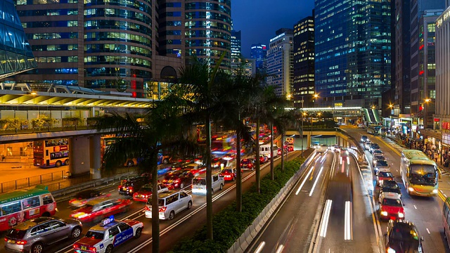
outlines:
[{"label": "tallest palm tree, second from the left, crown and trunk", "polygon": [[212,240],[212,167],[211,167],[211,121],[217,112],[218,101],[221,99],[218,86],[224,79],[224,72],[219,72],[221,60],[225,54],[222,53],[221,58],[212,69],[208,61],[200,61],[193,58],[190,65],[181,67],[181,77],[179,84],[184,87],[188,108],[191,112],[192,120],[200,120],[205,123],[206,129],[206,228],[207,239]]}]

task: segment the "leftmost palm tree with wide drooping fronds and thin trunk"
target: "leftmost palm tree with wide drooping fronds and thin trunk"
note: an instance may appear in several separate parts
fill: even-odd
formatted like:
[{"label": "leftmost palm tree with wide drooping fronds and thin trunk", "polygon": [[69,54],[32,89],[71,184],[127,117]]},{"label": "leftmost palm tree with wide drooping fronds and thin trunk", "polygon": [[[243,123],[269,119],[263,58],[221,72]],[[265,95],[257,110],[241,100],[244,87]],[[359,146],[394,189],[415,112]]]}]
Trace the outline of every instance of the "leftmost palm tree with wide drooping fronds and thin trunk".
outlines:
[{"label": "leftmost palm tree with wide drooping fronds and thin trunk", "polygon": [[[129,157],[139,157],[141,171],[151,174],[153,189],[158,189],[158,153],[171,149],[175,153],[193,155],[200,153],[195,139],[184,128],[181,110],[186,108],[184,101],[176,95],[155,102],[152,109],[143,115],[105,115],[98,118],[98,130],[114,129],[120,138],[110,145],[103,157],[104,168],[114,171]],[[152,195],[152,238],[153,252],[160,250],[160,221],[158,219],[158,191]]]}]

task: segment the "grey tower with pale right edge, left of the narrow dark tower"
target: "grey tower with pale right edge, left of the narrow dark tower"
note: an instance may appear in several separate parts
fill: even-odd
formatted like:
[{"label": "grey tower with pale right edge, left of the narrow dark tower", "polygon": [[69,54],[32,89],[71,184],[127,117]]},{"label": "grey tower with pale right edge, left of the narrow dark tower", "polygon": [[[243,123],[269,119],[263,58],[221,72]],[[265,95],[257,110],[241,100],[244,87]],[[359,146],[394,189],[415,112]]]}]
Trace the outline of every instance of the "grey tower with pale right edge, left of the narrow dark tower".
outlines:
[{"label": "grey tower with pale right edge, left of the narrow dark tower", "polygon": [[266,82],[277,96],[292,96],[294,77],[293,30],[282,28],[269,41]]}]

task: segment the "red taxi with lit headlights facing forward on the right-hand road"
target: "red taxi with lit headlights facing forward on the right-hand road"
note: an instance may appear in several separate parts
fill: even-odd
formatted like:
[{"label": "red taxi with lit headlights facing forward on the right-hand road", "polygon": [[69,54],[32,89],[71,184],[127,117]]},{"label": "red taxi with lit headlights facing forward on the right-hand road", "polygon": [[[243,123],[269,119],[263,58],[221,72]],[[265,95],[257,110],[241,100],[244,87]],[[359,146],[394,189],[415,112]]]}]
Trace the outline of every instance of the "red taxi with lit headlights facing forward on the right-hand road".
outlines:
[{"label": "red taxi with lit headlights facing forward on the right-hand road", "polygon": [[380,194],[380,219],[404,219],[405,211],[400,195],[384,192]]}]

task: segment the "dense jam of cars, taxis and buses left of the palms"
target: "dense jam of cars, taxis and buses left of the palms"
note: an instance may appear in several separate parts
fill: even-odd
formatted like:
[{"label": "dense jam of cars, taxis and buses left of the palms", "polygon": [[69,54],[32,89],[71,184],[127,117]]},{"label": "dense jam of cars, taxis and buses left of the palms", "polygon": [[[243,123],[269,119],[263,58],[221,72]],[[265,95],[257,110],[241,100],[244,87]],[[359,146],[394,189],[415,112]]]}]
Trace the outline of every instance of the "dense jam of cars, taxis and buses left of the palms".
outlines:
[{"label": "dense jam of cars, taxis and buses left of the palms", "polygon": [[[278,160],[277,151],[275,158]],[[265,157],[264,161],[270,160]],[[219,202],[236,187],[236,161],[233,155],[224,155],[213,162],[213,201]],[[255,180],[255,157],[245,157],[240,163],[245,167],[240,171],[243,186],[248,188]],[[201,160],[176,160],[162,163],[158,169],[158,218],[162,220],[160,235],[165,235],[205,211],[205,165]],[[152,241],[150,200],[154,189],[150,183],[150,176],[141,174],[118,186],[83,190],[58,203],[45,186],[2,195],[4,219],[0,223],[5,239],[0,252],[139,252]],[[126,246],[124,242],[133,238],[137,240]]]}]

